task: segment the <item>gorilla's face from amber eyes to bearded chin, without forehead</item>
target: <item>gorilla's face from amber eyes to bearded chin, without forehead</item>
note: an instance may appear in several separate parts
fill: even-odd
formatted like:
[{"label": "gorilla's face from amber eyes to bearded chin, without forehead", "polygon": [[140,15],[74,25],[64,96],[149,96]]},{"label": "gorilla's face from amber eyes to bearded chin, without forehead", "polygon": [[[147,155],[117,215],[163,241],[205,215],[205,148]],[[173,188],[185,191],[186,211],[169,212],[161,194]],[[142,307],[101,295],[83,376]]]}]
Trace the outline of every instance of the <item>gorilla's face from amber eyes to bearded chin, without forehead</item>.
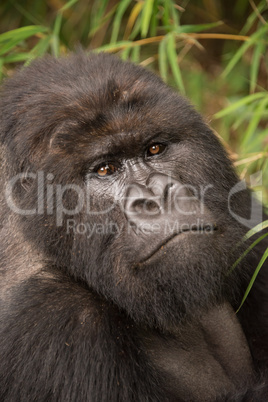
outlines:
[{"label": "gorilla's face from amber eyes to bearded chin, without forehead", "polygon": [[[117,157],[104,155],[86,175],[91,212],[98,206],[98,222],[114,229],[95,236],[99,253],[89,259],[102,269],[88,269],[88,254],[83,262],[76,260],[87,248],[88,240],[81,236],[74,265],[83,267],[87,282],[136,321],[175,324],[192,316],[197,305],[207,308],[223,299],[233,242],[241,230],[223,205],[224,190],[221,196],[214,194],[217,182],[204,175],[209,155],[200,156],[199,170],[193,167],[194,142],[154,133],[152,139],[136,141],[129,135],[125,141],[133,142],[127,155],[121,136],[127,135],[114,136],[120,144],[112,152]],[[195,177],[199,175],[202,182]]]}]

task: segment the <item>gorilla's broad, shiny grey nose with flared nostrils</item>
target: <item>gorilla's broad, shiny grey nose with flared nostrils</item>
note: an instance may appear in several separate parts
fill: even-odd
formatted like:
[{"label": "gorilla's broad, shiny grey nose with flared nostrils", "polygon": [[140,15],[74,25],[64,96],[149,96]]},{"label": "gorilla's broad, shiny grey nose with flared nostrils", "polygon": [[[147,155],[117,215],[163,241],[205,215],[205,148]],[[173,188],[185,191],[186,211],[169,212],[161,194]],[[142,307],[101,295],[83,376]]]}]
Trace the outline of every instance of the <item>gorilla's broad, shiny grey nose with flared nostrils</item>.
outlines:
[{"label": "gorilla's broad, shiny grey nose with flared nostrils", "polygon": [[125,213],[128,219],[156,218],[165,213],[170,199],[171,188],[175,185],[167,175],[152,174],[145,185],[132,183],[126,193]]}]

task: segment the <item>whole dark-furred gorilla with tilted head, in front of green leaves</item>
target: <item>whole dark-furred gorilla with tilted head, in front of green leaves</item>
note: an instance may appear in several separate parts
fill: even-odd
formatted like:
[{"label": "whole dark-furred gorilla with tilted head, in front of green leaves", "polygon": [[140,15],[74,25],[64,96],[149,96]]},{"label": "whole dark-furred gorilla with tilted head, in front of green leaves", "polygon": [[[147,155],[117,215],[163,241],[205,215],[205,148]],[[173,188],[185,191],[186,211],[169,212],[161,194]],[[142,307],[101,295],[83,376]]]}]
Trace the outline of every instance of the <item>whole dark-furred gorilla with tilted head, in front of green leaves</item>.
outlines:
[{"label": "whole dark-furred gorilla with tilted head, in front of green leaves", "polygon": [[1,401],[267,401],[267,237],[232,269],[254,202],[199,114],[82,52],[0,111]]}]

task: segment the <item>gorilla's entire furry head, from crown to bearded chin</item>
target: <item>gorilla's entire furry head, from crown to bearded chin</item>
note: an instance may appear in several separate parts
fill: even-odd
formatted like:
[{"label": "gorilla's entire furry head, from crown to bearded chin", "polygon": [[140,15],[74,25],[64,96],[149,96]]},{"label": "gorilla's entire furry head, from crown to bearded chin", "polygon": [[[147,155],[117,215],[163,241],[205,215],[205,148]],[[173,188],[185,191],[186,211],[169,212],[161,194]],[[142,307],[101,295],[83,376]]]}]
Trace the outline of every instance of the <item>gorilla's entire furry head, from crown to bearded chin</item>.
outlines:
[{"label": "gorilla's entire furry head, from crown to bearded chin", "polygon": [[238,179],[182,97],[105,54],[37,61],[4,90],[16,219],[48,261],[149,325],[226,298],[248,194],[228,204]]}]

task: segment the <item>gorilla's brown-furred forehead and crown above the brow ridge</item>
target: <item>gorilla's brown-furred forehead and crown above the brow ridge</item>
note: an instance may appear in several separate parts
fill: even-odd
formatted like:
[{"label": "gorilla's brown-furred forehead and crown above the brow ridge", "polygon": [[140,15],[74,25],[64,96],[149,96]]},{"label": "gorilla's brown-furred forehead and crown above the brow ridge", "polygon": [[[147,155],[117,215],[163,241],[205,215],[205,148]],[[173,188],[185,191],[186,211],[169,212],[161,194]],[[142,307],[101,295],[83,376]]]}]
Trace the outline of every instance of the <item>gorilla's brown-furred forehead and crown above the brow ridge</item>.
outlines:
[{"label": "gorilla's brown-furred forehead and crown above the brow ridge", "polygon": [[78,129],[82,143],[91,135],[95,139],[133,130],[189,135],[191,124],[200,125],[187,101],[156,75],[107,54],[35,61],[8,81],[4,91],[11,116],[28,139],[55,130],[61,136],[66,128],[74,133]]}]

